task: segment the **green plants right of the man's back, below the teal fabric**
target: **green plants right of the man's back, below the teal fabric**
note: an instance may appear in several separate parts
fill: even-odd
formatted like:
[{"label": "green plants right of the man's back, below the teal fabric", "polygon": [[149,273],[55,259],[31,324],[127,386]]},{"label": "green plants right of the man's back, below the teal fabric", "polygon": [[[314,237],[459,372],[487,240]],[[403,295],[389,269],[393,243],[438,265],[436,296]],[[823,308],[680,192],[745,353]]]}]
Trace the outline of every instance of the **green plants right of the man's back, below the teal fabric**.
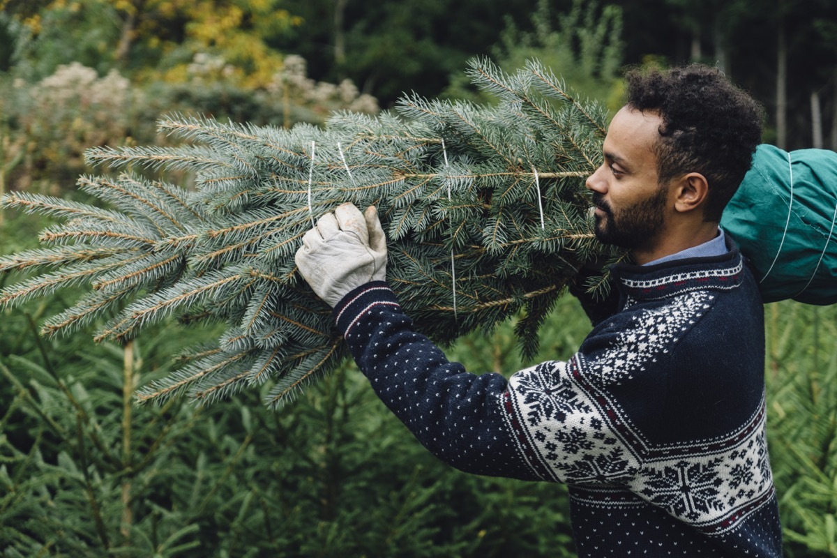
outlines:
[{"label": "green plants right of the man's back, below the teal fabric", "polygon": [[766,307],[768,438],[789,557],[837,556],[837,305]]}]

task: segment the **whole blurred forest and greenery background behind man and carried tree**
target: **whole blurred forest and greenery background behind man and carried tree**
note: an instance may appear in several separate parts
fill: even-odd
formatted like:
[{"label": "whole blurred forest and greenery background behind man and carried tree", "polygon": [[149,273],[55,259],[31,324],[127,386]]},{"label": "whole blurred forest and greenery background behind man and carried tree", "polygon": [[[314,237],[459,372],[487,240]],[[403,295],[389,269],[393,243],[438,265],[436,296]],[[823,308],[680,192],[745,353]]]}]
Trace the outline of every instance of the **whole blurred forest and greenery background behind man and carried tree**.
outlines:
[{"label": "whole blurred forest and greenery background behind man and carried tree", "polygon": [[[75,181],[93,171],[85,149],[165,144],[155,120],[170,112],[290,126],[321,124],[333,110],[376,114],[409,91],[490,103],[465,79],[478,55],[505,69],[541,59],[614,110],[626,67],[713,64],[767,108],[764,141],[837,148],[834,0],[0,8],[0,192],[81,199]],[[0,250],[36,248],[49,224],[0,213]],[[574,555],[562,486],[442,465],[350,364],[281,412],[265,411],[258,392],[208,408],[136,407],[136,387],[211,332],[172,322],[126,346],[41,338],[39,320],[72,296],[0,320],[0,555]],[[837,556],[837,307],[765,311],[786,552]],[[530,364],[517,356],[513,322],[461,339],[449,356],[471,371]],[[535,360],[566,358],[588,330],[564,297]]]}]

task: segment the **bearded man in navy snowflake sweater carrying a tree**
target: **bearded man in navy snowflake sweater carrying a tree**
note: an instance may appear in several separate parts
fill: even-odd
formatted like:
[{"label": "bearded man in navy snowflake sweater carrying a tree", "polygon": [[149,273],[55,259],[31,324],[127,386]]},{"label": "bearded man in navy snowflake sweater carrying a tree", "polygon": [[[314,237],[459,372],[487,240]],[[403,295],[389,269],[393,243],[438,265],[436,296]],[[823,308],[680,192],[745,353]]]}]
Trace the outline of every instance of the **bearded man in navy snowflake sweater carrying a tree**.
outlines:
[{"label": "bearded man in navy snowflake sweater carrying a tree", "polygon": [[629,73],[587,186],[598,238],[635,264],[613,269],[607,300],[572,289],[595,325],[576,354],[508,381],[465,372],[413,331],[385,282],[374,207],[321,218],[296,262],[377,394],[434,455],[569,485],[579,556],[779,556],[762,303],[718,228],[761,121],[715,69]]}]

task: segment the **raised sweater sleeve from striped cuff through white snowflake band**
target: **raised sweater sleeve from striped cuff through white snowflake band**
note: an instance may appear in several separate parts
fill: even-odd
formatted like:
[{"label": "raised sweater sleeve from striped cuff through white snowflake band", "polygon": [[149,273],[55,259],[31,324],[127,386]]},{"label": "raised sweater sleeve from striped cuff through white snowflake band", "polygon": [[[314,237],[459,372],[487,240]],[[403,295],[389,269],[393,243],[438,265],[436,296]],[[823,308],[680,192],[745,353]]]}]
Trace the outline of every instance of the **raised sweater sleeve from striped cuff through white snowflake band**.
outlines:
[{"label": "raised sweater sleeve from striped cuff through white snowflake band", "polygon": [[[626,482],[636,468],[572,363],[549,361],[506,381],[470,374],[413,330],[387,284],[355,289],[334,310],[357,365],[431,453],[461,470],[557,482]],[[546,434],[545,434],[546,433]]]}]

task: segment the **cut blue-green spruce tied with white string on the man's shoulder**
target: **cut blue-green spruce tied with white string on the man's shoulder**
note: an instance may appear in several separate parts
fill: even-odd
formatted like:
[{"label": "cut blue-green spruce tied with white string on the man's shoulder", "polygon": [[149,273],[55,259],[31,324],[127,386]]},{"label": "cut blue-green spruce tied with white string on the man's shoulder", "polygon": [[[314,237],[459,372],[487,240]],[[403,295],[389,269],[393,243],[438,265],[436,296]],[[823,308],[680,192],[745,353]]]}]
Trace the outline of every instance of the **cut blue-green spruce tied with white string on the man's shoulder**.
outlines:
[{"label": "cut blue-green spruce tied with white string on the man's shoulder", "polygon": [[[280,407],[347,356],[331,310],[295,273],[301,237],[342,202],[375,204],[389,283],[419,330],[445,343],[520,314],[521,351],[532,354],[578,268],[615,256],[594,238],[584,187],[608,115],[536,62],[505,74],[476,61],[469,74],[498,105],[413,95],[398,114],[338,114],[325,129],[173,116],[160,129],[185,145],[91,150],[89,161],[126,169],[79,181],[112,208],[3,198],[4,207],[65,222],[41,234],[47,248],[0,260],[3,271],[37,272],[3,289],[0,302],[89,286],[43,332],[95,324],[97,340],[131,340],[170,315],[221,321],[213,346],[184,356],[139,398],[187,392],[212,402],[272,381],[265,404]],[[137,167],[190,171],[198,188],[150,180]]]}]

